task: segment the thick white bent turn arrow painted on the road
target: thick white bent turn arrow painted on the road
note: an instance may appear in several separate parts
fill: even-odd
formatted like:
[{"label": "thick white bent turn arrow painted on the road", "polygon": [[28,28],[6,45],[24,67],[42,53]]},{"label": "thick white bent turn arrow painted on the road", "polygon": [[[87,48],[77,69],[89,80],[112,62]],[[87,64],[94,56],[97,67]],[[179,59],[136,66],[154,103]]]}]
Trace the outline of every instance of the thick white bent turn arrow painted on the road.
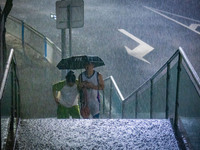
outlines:
[{"label": "thick white bent turn arrow painted on the road", "polygon": [[143,42],[142,40],[138,39],[137,37],[135,37],[134,35],[130,34],[129,32],[127,32],[124,29],[118,29],[121,33],[125,34],[126,36],[128,36],[129,38],[133,39],[134,41],[136,41],[137,43],[139,43],[139,45],[134,48],[134,49],[130,49],[127,46],[124,46],[127,53],[133,57],[136,57],[144,62],[147,62],[150,64],[149,61],[147,61],[146,59],[144,59],[143,57],[145,55],[147,55],[148,53],[150,53],[154,48],[151,47],[150,45],[148,45],[147,43]]}]

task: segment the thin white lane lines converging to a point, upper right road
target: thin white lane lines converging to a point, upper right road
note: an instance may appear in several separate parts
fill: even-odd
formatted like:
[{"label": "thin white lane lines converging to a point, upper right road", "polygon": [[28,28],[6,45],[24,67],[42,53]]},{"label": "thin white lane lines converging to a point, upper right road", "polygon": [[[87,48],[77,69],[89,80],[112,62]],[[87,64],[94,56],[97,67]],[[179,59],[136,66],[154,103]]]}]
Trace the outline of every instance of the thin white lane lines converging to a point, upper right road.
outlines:
[{"label": "thin white lane lines converging to a point, upper right road", "polygon": [[[195,33],[197,33],[197,34],[200,34],[200,32],[196,31],[194,28],[191,28],[191,27],[189,27],[189,26],[187,26],[187,25],[185,25],[185,24],[183,24],[183,23],[181,23],[181,22],[179,22],[179,21],[177,21],[177,20],[175,20],[175,19],[172,19],[172,18],[170,18],[170,17],[168,17],[168,16],[166,16],[166,15],[160,13],[160,12],[164,12],[164,11],[156,10],[156,9],[153,9],[153,8],[150,8],[150,7],[147,7],[147,6],[144,6],[144,7],[147,8],[147,9],[149,9],[149,10],[151,10],[151,11],[153,11],[153,12],[155,12],[155,13],[157,13],[157,14],[159,14],[159,15],[161,15],[161,16],[163,16],[163,17],[165,17],[165,18],[167,18],[167,19],[169,19],[169,20],[171,20],[171,21],[173,21],[173,22],[175,22],[175,23],[177,23],[177,24],[179,24],[179,25],[181,25],[181,26],[183,26],[183,27],[185,27],[185,28],[188,28],[188,29],[192,30],[193,32],[195,32]],[[171,13],[170,13],[170,14],[171,14]],[[178,16],[178,15],[175,15],[175,14],[174,14],[174,16]],[[178,17],[188,19],[188,18],[183,17],[183,16],[180,16],[180,15],[179,15]],[[189,20],[189,19],[188,19],[188,20]],[[190,20],[191,20],[191,19],[190,19]],[[192,19],[192,20],[194,20],[194,19]],[[196,20],[196,21],[197,21],[197,20]],[[199,22],[199,21],[197,21],[197,22]]]}]

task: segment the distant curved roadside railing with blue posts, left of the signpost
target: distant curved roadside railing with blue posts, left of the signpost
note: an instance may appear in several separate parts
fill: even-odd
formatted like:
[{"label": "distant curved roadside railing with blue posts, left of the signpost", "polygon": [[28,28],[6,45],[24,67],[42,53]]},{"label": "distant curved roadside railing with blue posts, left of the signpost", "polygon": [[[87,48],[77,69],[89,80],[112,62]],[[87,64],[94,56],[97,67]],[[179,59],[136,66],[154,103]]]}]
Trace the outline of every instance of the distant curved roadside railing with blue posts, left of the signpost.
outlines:
[{"label": "distant curved roadside railing with blue posts, left of the signpost", "polygon": [[25,24],[22,20],[8,16],[6,29],[7,33],[22,41],[24,54],[26,54],[25,44],[28,44],[55,66],[61,60],[61,50],[51,40],[31,26]]}]

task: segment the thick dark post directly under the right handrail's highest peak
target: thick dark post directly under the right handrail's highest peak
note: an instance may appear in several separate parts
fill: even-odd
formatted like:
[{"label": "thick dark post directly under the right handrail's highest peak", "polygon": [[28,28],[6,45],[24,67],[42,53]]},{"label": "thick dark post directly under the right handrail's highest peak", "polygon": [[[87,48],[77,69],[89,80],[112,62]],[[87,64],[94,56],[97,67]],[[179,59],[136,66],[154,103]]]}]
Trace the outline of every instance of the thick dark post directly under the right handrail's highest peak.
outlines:
[{"label": "thick dark post directly under the right handrail's highest peak", "polygon": [[178,67],[177,67],[177,83],[176,83],[176,102],[175,102],[175,116],[174,127],[178,126],[178,107],[179,107],[179,85],[180,85],[180,72],[181,72],[182,55],[179,53]]}]

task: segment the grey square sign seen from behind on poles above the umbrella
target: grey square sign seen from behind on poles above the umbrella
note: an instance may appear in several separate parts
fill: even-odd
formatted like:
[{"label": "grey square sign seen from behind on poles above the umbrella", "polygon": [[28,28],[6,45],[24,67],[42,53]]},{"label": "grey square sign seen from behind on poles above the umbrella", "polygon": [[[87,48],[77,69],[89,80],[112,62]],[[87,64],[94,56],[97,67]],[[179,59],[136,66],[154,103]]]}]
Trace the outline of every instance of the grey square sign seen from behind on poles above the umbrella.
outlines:
[{"label": "grey square sign seen from behind on poles above the umbrella", "polygon": [[[69,56],[72,56],[72,28],[84,25],[83,0],[61,0],[56,2],[56,28],[61,29],[62,59],[67,57],[66,29],[69,29]],[[62,73],[62,78],[65,73]]]}]

